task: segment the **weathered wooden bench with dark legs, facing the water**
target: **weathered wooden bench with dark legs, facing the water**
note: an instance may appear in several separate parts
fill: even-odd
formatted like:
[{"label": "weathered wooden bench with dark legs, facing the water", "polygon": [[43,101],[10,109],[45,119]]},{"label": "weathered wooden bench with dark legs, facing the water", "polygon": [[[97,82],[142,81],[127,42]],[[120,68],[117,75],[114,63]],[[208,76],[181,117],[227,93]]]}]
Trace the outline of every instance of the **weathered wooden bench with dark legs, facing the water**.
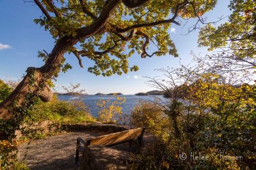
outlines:
[{"label": "weathered wooden bench with dark legs, facing the water", "polygon": [[84,141],[81,137],[77,137],[76,163],[79,160],[79,153],[83,153],[84,148],[92,144],[100,146],[114,146],[116,144],[126,143],[137,139],[138,146],[139,148],[141,148],[141,146],[143,146],[144,132],[145,128],[132,128],[130,130],[124,130],[122,132],[116,132],[113,134],[100,135],[99,137],[91,137],[86,139],[86,141]]}]

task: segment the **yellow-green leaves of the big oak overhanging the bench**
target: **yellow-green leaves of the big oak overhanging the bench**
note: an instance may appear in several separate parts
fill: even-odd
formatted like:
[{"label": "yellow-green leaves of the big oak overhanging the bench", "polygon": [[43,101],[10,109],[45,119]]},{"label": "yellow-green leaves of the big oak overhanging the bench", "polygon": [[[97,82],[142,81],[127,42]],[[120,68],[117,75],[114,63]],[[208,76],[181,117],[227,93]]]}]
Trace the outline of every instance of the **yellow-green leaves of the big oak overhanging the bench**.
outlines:
[{"label": "yellow-green leaves of the big oak overhanging the bench", "polygon": [[[44,17],[35,19],[36,24],[49,30],[56,41],[61,37],[69,36],[79,38],[78,32],[95,24],[97,19],[103,17],[108,4],[114,1],[35,1],[40,6]],[[117,1],[116,1],[117,2]],[[147,1],[138,8],[129,8],[126,1],[119,1],[108,21],[100,31],[81,38],[76,47],[70,47],[79,64],[83,67],[80,55],[94,61],[95,65],[88,68],[88,72],[95,75],[111,76],[115,73],[121,75],[129,70],[136,71],[138,66],[129,66],[128,59],[137,52],[141,58],[163,56],[170,54],[177,57],[177,49],[169,34],[172,23],[179,15],[182,18],[194,18],[195,13],[203,15],[212,10],[216,0],[196,1]],[[172,19],[168,19],[173,15]],[[105,17],[105,16],[104,16]],[[96,28],[97,29],[97,28]],[[156,45],[156,52],[147,52],[149,43]],[[46,58],[39,52],[39,56]],[[64,62],[64,61],[63,61]],[[63,65],[63,70],[71,68]]]}]

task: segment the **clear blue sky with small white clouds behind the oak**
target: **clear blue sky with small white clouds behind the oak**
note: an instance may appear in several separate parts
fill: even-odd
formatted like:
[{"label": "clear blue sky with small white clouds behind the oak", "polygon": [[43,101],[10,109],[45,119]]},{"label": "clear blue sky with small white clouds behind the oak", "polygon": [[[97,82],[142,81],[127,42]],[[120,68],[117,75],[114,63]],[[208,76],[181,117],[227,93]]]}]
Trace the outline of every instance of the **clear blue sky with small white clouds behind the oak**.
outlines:
[{"label": "clear blue sky with small white clouds behind the oak", "polygon": [[[207,18],[217,20],[221,15],[227,16],[229,1],[219,0],[216,8],[207,13]],[[0,0],[0,79],[19,80],[25,74],[28,66],[40,67],[44,63],[42,59],[36,57],[38,50],[51,52],[54,47],[54,40],[51,35],[33,22],[33,19],[42,15],[39,8],[32,3],[24,3],[17,0]],[[127,74],[113,75],[111,77],[95,76],[87,72],[87,67],[92,65],[88,59],[83,59],[84,68],[80,68],[77,59],[72,55],[67,56],[67,62],[72,65],[72,70],[67,73],[61,73],[55,82],[56,90],[63,92],[61,86],[69,86],[70,83],[81,83],[81,88],[86,93],[115,93],[134,94],[138,92],[147,92],[152,90],[143,76],[154,77],[160,75],[154,71],[156,68],[165,68],[167,66],[179,66],[179,60],[186,64],[192,59],[189,54],[191,51],[195,54],[206,54],[205,48],[198,48],[198,31],[184,35],[188,31],[188,26],[195,23],[190,20],[185,27],[175,26],[170,29],[172,40],[177,46],[179,58],[173,56],[161,56],[141,59],[140,55],[134,54],[129,59],[130,65],[138,65],[138,72],[129,72]]]}]

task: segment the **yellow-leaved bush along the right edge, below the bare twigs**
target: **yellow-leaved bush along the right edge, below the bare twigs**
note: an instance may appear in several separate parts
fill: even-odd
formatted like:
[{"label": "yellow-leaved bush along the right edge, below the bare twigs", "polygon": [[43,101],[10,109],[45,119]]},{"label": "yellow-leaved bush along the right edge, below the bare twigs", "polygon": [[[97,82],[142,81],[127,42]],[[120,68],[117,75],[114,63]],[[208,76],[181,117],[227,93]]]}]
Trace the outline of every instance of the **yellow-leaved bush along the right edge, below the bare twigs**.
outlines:
[{"label": "yellow-leaved bush along the right edge, below the bare twigs", "polygon": [[190,87],[191,95],[186,98],[198,111],[211,115],[205,122],[207,128],[200,131],[199,141],[227,155],[243,157],[243,161],[237,163],[239,166],[252,166],[255,160],[255,85],[230,86],[216,83],[216,76],[206,77],[203,75],[205,81],[199,80]]}]

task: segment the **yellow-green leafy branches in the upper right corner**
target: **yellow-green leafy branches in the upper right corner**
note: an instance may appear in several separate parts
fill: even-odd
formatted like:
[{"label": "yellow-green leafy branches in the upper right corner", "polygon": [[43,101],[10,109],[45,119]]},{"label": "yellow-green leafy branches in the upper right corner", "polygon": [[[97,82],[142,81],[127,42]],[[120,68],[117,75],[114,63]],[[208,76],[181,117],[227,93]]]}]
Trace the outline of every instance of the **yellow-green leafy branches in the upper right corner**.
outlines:
[{"label": "yellow-green leafy branches in the upper right corner", "polygon": [[218,27],[207,24],[200,31],[199,46],[222,48],[238,59],[255,58],[255,1],[230,1],[229,8],[232,14],[228,22]]}]

